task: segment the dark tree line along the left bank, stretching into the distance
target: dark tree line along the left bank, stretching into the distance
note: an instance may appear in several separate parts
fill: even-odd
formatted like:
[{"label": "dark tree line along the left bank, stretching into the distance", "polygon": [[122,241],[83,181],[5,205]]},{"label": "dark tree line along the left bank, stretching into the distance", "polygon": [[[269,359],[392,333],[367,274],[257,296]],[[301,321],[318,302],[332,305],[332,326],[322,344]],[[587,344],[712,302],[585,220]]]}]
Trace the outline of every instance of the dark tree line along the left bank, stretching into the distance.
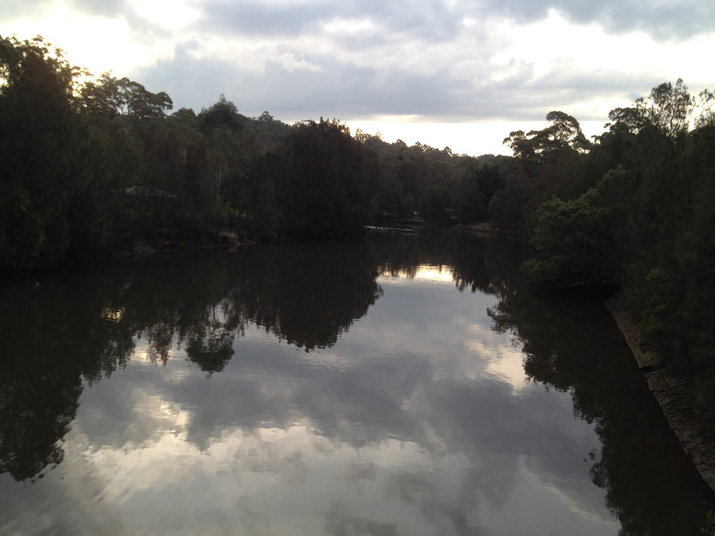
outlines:
[{"label": "dark tree line along the left bank, stretching into the distance", "polygon": [[458,195],[476,159],[333,119],[288,125],[221,95],[198,113],[41,37],[0,37],[0,268],[53,266],[154,244],[342,236],[380,214],[485,216]]}]

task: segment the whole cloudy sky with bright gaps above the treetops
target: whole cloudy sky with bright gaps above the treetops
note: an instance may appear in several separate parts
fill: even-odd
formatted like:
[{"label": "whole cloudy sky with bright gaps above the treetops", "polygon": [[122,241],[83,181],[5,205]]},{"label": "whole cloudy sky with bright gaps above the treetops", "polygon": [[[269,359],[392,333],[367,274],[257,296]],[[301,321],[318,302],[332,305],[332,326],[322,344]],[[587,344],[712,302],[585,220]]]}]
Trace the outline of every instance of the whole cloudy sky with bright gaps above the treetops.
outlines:
[{"label": "whole cloudy sky with bright gaps above the treetops", "polygon": [[174,109],[338,119],[458,154],[510,154],[561,110],[586,136],[664,81],[715,89],[715,0],[3,0],[41,35]]}]

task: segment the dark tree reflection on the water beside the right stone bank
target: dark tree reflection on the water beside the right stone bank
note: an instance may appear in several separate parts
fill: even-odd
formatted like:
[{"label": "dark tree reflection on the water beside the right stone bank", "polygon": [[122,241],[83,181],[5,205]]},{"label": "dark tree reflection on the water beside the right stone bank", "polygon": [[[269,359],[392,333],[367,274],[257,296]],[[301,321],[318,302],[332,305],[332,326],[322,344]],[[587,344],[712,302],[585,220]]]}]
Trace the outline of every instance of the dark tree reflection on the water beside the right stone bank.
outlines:
[{"label": "dark tree reflection on the water beside the right stone bank", "polygon": [[490,316],[495,329],[516,334],[528,377],[570,392],[574,415],[596,423],[602,447],[590,455],[590,474],[606,490],[620,533],[699,533],[712,492],[684,457],[635,360],[623,358],[630,351],[605,307],[521,289],[505,294]]}]

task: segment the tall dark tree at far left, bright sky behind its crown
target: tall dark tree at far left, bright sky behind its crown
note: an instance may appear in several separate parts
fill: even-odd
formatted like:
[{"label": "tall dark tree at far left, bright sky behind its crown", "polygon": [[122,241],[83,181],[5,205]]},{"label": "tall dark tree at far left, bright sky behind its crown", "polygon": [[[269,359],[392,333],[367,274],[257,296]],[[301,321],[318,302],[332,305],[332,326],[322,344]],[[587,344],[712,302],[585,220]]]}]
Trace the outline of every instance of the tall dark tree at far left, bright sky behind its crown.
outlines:
[{"label": "tall dark tree at far left, bright sky behind its crown", "polygon": [[[82,178],[76,155],[83,137],[72,108],[78,72],[40,36],[0,37],[0,195],[8,210],[3,232],[18,251],[29,241],[24,266],[56,263],[69,247],[67,209]],[[22,231],[8,214],[31,226]]]}]

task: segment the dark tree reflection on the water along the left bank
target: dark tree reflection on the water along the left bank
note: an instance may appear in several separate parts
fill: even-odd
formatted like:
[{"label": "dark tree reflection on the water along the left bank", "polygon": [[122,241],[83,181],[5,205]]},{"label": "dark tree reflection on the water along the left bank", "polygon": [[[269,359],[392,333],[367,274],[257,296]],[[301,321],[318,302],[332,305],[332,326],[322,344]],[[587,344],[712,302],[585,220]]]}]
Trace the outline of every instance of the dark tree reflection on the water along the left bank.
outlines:
[{"label": "dark tree reflection on the water along the left bank", "polygon": [[166,364],[184,348],[207,374],[232,359],[247,322],[305,351],[337,337],[375,303],[368,245],[318,242],[122,262],[17,278],[0,302],[0,472],[16,480],[61,462],[82,380],[110,377],[132,359]]}]

